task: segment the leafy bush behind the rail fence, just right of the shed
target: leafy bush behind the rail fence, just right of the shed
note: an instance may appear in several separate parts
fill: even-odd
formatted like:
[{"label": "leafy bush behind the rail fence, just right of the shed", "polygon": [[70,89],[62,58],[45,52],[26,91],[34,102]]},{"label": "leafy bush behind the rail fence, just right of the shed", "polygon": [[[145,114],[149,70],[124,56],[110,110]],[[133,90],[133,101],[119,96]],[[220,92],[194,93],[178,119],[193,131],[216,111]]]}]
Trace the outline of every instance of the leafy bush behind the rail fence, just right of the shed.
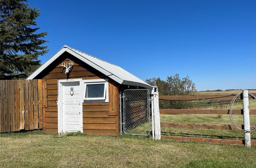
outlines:
[{"label": "leafy bush behind the rail fence, just right of the shed", "polygon": [[[177,73],[173,76],[167,76],[166,81],[158,78],[146,79],[146,82],[156,81],[160,96],[165,95],[192,95],[196,91],[195,83],[189,79],[189,76],[181,78]],[[189,101],[159,101],[160,109],[186,109]]]}]

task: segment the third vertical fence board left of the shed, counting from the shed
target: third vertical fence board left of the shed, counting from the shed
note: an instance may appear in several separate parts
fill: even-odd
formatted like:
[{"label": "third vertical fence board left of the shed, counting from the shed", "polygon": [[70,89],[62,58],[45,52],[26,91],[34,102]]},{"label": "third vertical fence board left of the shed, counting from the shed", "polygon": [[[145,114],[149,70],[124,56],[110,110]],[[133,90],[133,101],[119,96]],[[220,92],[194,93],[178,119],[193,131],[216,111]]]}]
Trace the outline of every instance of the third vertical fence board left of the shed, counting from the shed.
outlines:
[{"label": "third vertical fence board left of the shed, counting from the shed", "polygon": [[33,80],[29,80],[29,129],[34,129]]}]

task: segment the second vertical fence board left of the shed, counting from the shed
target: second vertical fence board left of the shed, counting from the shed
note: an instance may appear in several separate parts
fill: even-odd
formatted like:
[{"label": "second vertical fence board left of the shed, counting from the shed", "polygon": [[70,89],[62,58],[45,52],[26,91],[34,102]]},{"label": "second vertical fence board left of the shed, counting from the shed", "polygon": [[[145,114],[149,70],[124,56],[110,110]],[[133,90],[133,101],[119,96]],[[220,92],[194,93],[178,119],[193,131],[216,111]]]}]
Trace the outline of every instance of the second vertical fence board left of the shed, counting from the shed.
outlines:
[{"label": "second vertical fence board left of the shed, counting from the shed", "polygon": [[38,89],[37,79],[33,79],[34,89],[34,129],[38,129]]}]

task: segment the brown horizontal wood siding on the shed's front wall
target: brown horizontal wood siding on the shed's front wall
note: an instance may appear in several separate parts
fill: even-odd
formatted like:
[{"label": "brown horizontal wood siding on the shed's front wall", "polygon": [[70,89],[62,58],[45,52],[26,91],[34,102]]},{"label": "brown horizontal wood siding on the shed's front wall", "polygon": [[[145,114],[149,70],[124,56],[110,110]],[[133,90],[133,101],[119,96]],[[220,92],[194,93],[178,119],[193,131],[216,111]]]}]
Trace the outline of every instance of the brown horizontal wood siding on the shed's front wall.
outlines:
[{"label": "brown horizontal wood siding on the shed's front wall", "polygon": [[[62,61],[74,61],[70,74],[65,74],[65,68],[59,64]],[[52,62],[35,79],[46,79],[47,108],[44,108],[44,131],[58,133],[58,80],[62,79],[108,79],[109,102],[83,103],[83,132],[94,135],[118,136],[120,130],[119,119],[119,91],[115,81],[95,70],[80,59],[64,52]],[[82,93],[83,94],[83,93]]]}]

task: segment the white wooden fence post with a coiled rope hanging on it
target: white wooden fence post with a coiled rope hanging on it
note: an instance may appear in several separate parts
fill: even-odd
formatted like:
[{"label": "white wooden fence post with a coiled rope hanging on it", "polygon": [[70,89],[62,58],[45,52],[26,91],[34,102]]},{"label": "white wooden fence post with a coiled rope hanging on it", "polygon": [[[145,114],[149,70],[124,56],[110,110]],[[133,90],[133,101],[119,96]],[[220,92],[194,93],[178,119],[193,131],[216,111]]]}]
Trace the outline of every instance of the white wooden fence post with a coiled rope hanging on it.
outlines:
[{"label": "white wooden fence post with a coiled rope hanging on it", "polygon": [[[248,90],[243,90],[244,130],[250,130]],[[251,147],[251,131],[245,131],[245,146]]]}]

